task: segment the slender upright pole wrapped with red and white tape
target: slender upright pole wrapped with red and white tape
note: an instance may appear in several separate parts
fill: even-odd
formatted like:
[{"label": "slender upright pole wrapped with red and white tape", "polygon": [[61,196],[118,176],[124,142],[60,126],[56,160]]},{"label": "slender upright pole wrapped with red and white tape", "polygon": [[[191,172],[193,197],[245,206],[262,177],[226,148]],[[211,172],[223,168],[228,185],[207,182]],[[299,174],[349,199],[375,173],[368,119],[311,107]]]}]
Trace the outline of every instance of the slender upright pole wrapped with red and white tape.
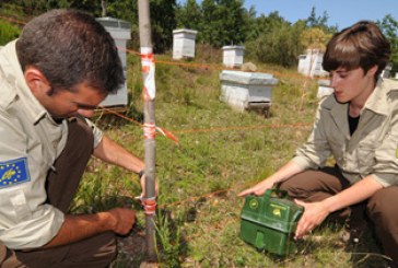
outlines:
[{"label": "slender upright pole wrapped with red and white tape", "polygon": [[155,65],[152,54],[149,0],[138,0],[138,14],[144,98],[145,195],[142,203],[145,210],[147,257],[149,261],[155,261]]}]

